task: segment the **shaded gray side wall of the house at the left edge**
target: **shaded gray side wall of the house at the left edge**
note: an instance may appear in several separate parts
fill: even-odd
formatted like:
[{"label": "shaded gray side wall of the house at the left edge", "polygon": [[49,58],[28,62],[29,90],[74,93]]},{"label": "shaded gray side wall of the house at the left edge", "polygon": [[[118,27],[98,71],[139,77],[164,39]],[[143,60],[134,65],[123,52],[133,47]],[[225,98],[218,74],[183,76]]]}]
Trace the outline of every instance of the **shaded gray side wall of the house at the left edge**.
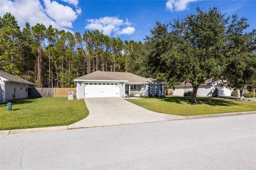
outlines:
[{"label": "shaded gray side wall of the house at the left edge", "polygon": [[15,99],[28,98],[28,91],[26,91],[27,84],[22,84],[22,90],[20,89],[21,83],[5,82],[5,100],[14,99],[14,88],[15,88]]}]

